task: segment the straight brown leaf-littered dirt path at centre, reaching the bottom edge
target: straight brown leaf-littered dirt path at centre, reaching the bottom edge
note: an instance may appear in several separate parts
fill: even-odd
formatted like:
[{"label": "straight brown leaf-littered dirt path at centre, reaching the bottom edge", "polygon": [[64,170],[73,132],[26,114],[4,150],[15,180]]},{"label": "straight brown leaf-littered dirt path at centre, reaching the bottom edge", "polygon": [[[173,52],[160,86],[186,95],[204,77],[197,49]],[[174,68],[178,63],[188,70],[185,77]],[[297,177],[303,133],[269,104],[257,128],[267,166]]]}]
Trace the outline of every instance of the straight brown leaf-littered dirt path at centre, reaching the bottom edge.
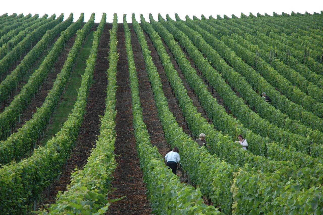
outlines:
[{"label": "straight brown leaf-littered dirt path at centre, reaching the bottom edge", "polygon": [[120,156],[116,157],[118,167],[114,171],[114,180],[112,181],[112,186],[116,190],[110,195],[110,198],[126,197],[112,203],[107,214],[151,214],[133,133],[129,70],[122,23],[118,24],[117,39],[120,54],[117,65],[117,85],[119,88],[116,104],[118,112],[116,116],[115,153]]}]

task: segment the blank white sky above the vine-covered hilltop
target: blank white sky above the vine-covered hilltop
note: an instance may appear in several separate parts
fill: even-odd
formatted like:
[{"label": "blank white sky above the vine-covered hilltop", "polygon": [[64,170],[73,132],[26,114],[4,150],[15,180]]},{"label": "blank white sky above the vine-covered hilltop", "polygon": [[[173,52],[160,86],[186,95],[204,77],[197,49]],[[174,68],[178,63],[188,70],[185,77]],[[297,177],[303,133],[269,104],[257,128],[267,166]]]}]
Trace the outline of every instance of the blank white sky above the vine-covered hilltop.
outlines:
[{"label": "blank white sky above the vine-covered hilltop", "polygon": [[295,13],[308,13],[314,12],[320,13],[323,10],[323,1],[320,0],[268,0],[268,1],[255,1],[255,0],[220,0],[216,1],[201,1],[201,0],[161,0],[161,1],[131,1],[131,0],[55,0],[55,1],[40,1],[40,0],[11,0],[1,1],[0,15],[8,13],[24,13],[27,15],[31,13],[34,15],[38,13],[39,16],[43,16],[47,13],[49,16],[60,13],[64,13],[64,19],[68,17],[69,13],[73,13],[74,19],[77,19],[81,12],[84,12],[84,20],[87,21],[92,12],[96,13],[95,22],[99,22],[102,13],[107,13],[107,22],[112,22],[113,13],[118,14],[118,22],[122,22],[123,14],[127,14],[127,21],[131,22],[132,13],[136,14],[137,21],[140,22],[140,14],[143,14],[146,21],[149,20],[149,13],[151,13],[155,20],[157,20],[157,14],[166,18],[168,13],[172,18],[175,18],[175,13],[185,19],[188,15],[193,18],[193,15],[201,17],[201,14],[208,17],[212,15],[216,17],[217,14],[223,17],[224,14],[231,17],[232,14],[240,17],[241,12],[245,15],[249,15],[249,12],[256,15],[260,14],[272,15],[275,11],[277,14],[282,12],[290,14],[291,11]]}]

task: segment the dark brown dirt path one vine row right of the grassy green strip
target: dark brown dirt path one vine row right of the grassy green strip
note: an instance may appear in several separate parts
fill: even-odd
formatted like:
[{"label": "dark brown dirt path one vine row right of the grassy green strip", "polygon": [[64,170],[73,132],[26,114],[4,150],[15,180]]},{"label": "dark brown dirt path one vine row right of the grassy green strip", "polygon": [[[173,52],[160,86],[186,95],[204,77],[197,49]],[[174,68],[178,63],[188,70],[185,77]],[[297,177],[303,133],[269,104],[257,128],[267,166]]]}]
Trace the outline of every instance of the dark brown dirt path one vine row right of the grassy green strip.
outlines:
[{"label": "dark brown dirt path one vine row right of the grassy green strip", "polygon": [[[93,30],[98,25],[95,25]],[[45,204],[55,203],[56,195],[59,190],[65,191],[66,186],[70,181],[70,174],[75,167],[81,169],[87,162],[87,158],[91,153],[91,149],[95,147],[97,135],[99,135],[100,117],[104,115],[105,98],[107,88],[106,71],[109,67],[107,56],[109,55],[109,29],[112,24],[106,24],[103,34],[100,38],[99,49],[96,59],[96,64],[93,72],[93,83],[91,85],[89,96],[87,100],[86,113],[83,118],[83,124],[80,128],[78,139],[73,148],[71,157],[67,164],[63,167],[59,181],[51,187],[49,197],[44,201],[39,209],[43,208]]]}]

